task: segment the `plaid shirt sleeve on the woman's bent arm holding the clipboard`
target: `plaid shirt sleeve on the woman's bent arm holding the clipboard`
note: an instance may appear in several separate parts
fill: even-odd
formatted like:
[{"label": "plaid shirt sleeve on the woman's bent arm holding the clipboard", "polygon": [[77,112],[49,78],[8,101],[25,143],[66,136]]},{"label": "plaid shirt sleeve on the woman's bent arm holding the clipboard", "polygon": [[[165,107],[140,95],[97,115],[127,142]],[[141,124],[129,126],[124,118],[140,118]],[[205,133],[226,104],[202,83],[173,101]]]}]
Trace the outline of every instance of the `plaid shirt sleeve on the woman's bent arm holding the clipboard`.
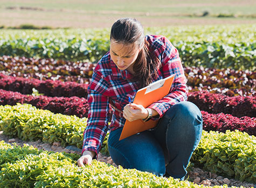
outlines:
[{"label": "plaid shirt sleeve on the woman's bent arm holding the clipboard", "polygon": [[165,37],[163,37],[163,45],[165,47],[161,54],[163,77],[165,78],[175,74],[175,78],[169,94],[148,107],[156,110],[159,114],[156,117],[151,118],[152,120],[162,118],[164,113],[170,109],[172,105],[188,99],[188,86],[186,85],[187,80],[184,75],[178,50]]}]

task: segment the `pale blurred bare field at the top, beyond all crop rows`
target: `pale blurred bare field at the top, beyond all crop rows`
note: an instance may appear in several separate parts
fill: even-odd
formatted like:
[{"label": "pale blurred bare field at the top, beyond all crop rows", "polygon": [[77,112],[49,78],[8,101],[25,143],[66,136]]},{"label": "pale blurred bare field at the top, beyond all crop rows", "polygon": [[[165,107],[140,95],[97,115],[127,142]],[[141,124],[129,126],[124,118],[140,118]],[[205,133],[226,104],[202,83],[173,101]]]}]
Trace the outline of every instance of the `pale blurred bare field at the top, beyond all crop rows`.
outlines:
[{"label": "pale blurred bare field at the top, beyond all crop rows", "polygon": [[144,26],[255,24],[255,0],[1,0],[0,27],[110,27],[120,17]]}]

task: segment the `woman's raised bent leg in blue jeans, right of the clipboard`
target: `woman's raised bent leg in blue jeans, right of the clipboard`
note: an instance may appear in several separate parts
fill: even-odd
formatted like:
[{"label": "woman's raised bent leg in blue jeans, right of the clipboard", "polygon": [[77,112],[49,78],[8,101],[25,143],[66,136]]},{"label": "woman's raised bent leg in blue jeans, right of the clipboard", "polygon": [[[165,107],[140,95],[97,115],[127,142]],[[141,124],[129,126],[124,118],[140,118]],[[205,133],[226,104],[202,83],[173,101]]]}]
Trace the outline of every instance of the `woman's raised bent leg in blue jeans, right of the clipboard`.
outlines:
[{"label": "woman's raised bent leg in blue jeans, right of the clipboard", "polygon": [[167,172],[172,177],[184,178],[190,157],[202,135],[202,114],[195,104],[180,102],[167,111],[164,122],[169,153]]}]

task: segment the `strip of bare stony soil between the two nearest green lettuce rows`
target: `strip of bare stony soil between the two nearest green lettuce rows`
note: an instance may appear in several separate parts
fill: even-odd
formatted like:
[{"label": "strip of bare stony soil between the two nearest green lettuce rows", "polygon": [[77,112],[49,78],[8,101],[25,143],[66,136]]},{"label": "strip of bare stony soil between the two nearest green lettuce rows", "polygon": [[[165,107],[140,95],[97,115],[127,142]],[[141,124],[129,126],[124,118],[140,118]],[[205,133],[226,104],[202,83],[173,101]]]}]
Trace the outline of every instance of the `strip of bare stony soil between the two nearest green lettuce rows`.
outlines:
[{"label": "strip of bare stony soil between the two nearest green lettuce rows", "polygon": [[[8,136],[5,136],[3,134],[3,131],[0,131],[0,141],[4,140],[6,143],[17,143],[18,146],[23,146],[23,144],[29,144],[33,147],[36,147],[38,149],[43,149],[47,151],[54,151],[54,152],[63,152],[66,153],[76,153],[81,154],[81,149],[68,146],[66,148],[61,147],[59,142],[54,142],[53,144],[44,143],[40,140],[38,141],[23,141],[18,138],[9,138]],[[112,158],[109,156],[104,156],[101,153],[98,155],[98,161],[109,163],[117,167],[117,165],[113,162]],[[118,168],[118,167],[117,167]],[[199,168],[192,168],[192,170],[186,175],[186,180],[189,180],[190,182],[193,182],[198,185],[206,185],[206,186],[215,186],[215,185],[224,185],[227,184],[229,187],[231,186],[244,186],[244,187],[256,187],[256,185],[253,185],[251,183],[247,182],[240,182],[235,179],[229,179],[222,176],[216,175],[216,173],[211,173],[204,171]]]}]

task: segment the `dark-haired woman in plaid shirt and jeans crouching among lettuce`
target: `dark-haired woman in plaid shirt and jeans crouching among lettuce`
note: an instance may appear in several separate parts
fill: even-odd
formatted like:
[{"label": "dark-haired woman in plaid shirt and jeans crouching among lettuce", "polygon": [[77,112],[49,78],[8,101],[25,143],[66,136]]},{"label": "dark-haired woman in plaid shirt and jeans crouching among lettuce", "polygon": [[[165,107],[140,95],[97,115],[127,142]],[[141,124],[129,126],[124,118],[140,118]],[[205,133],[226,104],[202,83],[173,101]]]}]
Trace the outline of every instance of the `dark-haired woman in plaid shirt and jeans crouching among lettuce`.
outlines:
[{"label": "dark-haired woman in plaid shirt and jeans crouching among lettuce", "polygon": [[[134,103],[136,91],[175,74],[169,95],[147,108]],[[94,69],[88,86],[87,127],[79,166],[97,158],[109,130],[109,154],[117,165],[184,179],[186,167],[202,135],[202,114],[185,102],[188,88],[177,49],[161,35],[144,36],[136,19],[117,20],[110,50]],[[113,116],[108,126],[109,105]],[[153,130],[119,141],[126,120],[159,120]]]}]

